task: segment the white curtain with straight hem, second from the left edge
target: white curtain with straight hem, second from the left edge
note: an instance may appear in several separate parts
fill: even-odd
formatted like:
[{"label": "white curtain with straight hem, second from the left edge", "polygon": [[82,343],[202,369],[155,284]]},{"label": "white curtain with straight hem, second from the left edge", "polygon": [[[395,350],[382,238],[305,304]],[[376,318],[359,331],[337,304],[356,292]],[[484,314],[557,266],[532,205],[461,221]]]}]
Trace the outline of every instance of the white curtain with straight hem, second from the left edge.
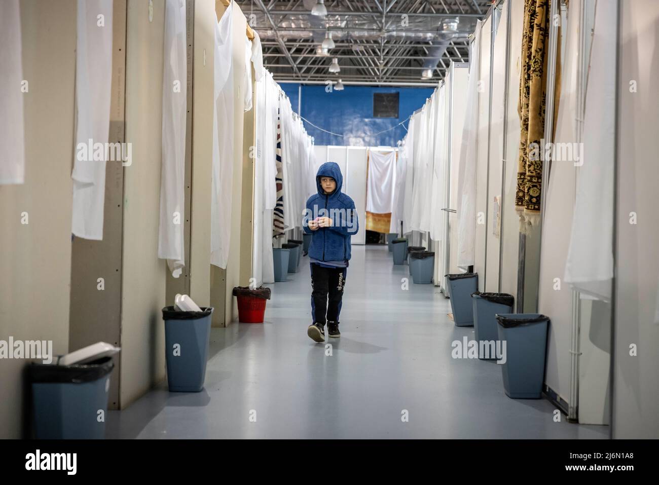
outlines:
[{"label": "white curtain with straight hem, second from the left edge", "polygon": [[112,4],[112,0],[78,0],[76,21],[76,151],[71,174],[71,231],[77,237],[96,241],[103,239],[105,146],[112,87]]}]

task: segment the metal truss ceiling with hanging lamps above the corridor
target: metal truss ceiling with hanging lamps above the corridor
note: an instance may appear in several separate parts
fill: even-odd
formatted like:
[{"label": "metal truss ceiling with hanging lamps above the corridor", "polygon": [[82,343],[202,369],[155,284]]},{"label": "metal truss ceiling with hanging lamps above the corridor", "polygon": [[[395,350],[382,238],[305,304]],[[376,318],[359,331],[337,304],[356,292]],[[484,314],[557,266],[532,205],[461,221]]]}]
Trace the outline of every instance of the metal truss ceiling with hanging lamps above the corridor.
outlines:
[{"label": "metal truss ceiling with hanging lamps above the corridor", "polygon": [[[451,62],[469,61],[476,19],[492,0],[235,0],[261,37],[264,63],[278,81],[322,84],[436,85]],[[448,23],[447,23],[448,22]],[[316,48],[326,32],[335,47]],[[339,74],[328,71],[336,57]],[[433,77],[422,78],[430,69]]]}]

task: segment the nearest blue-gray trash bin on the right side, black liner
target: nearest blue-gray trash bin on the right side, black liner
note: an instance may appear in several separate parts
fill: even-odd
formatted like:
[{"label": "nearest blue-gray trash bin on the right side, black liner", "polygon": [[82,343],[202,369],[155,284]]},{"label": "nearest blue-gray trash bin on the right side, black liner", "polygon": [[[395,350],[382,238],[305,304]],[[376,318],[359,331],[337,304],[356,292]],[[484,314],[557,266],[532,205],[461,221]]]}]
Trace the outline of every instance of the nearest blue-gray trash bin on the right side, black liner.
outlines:
[{"label": "nearest blue-gray trash bin on the right side, black liner", "polygon": [[496,316],[499,339],[505,341],[501,364],[503,389],[513,399],[540,399],[544,382],[549,317],[538,313]]}]

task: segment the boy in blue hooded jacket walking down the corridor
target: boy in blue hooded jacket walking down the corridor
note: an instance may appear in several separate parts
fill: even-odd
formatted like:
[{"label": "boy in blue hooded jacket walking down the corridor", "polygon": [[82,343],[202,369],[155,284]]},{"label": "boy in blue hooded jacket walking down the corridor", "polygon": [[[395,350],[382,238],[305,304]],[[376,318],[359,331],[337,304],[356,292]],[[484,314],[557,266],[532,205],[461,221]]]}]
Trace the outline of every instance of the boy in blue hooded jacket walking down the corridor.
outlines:
[{"label": "boy in blue hooded jacket walking down the corridor", "polygon": [[302,221],[304,232],[313,235],[308,252],[312,324],[306,333],[316,342],[325,341],[326,323],[329,337],[341,336],[339,313],[351,255],[350,238],[359,230],[355,202],[341,193],[342,185],[337,163],[320,165],[316,174],[318,194],[306,201]]}]

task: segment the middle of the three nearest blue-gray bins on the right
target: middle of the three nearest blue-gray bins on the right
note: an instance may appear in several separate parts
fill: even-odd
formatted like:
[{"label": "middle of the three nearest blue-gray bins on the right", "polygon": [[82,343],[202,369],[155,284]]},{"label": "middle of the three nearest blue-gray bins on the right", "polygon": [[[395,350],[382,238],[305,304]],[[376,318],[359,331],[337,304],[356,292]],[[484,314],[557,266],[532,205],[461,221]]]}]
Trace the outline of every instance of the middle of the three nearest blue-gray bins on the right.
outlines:
[{"label": "middle of the three nearest blue-gray bins on the right", "polygon": [[[474,311],[474,338],[478,342],[478,358],[497,360],[496,341],[499,339],[496,315],[513,311],[513,295],[508,293],[473,293],[471,295]],[[482,345],[480,342],[484,342]],[[494,347],[492,345],[494,344]],[[488,349],[487,355],[484,351]]]}]

